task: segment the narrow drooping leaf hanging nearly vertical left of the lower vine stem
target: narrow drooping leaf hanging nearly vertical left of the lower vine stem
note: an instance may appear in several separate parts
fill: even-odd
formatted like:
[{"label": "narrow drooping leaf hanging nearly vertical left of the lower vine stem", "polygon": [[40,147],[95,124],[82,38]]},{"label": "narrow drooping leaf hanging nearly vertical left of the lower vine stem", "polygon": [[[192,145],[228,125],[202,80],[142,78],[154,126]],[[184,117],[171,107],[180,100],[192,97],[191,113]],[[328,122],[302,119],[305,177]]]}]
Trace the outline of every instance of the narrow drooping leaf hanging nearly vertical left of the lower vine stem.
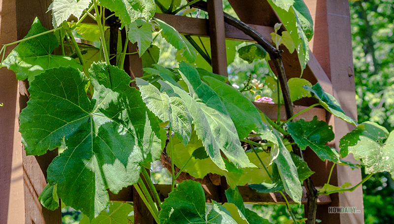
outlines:
[{"label": "narrow drooping leaf hanging nearly vertical left of the lower vine stem", "polygon": [[292,160],[289,150],[287,150],[286,146],[283,144],[282,136],[280,136],[278,132],[274,133],[278,138],[278,145],[273,145],[273,147],[278,147],[279,150],[278,156],[274,162],[278,166],[279,175],[283,182],[285,191],[296,203],[300,204],[302,187],[298,178],[296,165]]}]

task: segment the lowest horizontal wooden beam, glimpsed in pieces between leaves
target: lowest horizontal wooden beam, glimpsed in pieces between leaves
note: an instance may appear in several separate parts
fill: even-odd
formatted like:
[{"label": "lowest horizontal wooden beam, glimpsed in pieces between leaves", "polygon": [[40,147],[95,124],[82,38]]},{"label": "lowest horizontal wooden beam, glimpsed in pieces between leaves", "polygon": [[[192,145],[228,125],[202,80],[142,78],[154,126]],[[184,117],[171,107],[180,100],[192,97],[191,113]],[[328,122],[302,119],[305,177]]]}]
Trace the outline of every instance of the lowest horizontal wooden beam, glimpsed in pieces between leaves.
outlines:
[{"label": "lowest horizontal wooden beam, glimpsed in pieces between leaves", "polygon": [[[212,202],[213,200],[216,202],[222,202],[220,186],[216,186],[216,185],[201,185],[201,186],[204,189],[206,202]],[[168,197],[168,193],[171,192],[171,185],[155,184],[155,188],[159,193],[159,197],[162,201],[164,201],[164,199]],[[259,193],[249,188],[249,186],[238,186],[238,191],[242,195],[243,201],[248,204],[285,204],[286,203],[285,198],[279,192]],[[286,199],[290,203],[295,204],[295,202],[293,201],[293,199],[289,197],[289,195],[287,195],[286,193],[284,194],[286,196]],[[113,194],[110,192],[109,199],[111,201],[131,202],[132,201],[131,186],[129,186],[128,188],[124,188],[118,194]],[[302,204],[307,203],[305,188],[303,188],[303,195],[301,202]],[[319,195],[317,203],[318,205],[329,204],[331,203],[331,198],[329,195]]]}]

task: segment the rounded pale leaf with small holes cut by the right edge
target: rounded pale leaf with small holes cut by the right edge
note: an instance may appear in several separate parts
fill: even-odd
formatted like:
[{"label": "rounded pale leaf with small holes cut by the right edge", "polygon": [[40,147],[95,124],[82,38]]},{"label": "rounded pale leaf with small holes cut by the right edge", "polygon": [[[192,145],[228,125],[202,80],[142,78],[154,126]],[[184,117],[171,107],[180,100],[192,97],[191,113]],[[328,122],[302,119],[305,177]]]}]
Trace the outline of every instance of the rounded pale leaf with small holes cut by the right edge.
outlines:
[{"label": "rounded pale leaf with small holes cut by the right edge", "polygon": [[387,133],[386,128],[368,122],[346,135],[346,147],[365,165],[365,173],[390,172],[394,175],[394,132],[388,137]]}]

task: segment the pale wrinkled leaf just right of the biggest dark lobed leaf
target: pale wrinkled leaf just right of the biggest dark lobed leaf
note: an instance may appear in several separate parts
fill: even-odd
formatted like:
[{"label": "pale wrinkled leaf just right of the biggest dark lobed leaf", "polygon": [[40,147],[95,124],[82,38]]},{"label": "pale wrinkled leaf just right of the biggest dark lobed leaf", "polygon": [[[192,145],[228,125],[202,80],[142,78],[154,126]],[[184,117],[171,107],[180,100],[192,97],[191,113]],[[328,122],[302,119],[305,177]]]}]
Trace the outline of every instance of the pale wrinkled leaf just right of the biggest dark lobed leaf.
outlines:
[{"label": "pale wrinkled leaf just right of the biggest dark lobed leaf", "polygon": [[192,116],[185,102],[180,97],[168,96],[149,82],[136,78],[142,100],[163,122],[169,121],[169,127],[179,135],[182,143],[187,145],[192,135]]}]

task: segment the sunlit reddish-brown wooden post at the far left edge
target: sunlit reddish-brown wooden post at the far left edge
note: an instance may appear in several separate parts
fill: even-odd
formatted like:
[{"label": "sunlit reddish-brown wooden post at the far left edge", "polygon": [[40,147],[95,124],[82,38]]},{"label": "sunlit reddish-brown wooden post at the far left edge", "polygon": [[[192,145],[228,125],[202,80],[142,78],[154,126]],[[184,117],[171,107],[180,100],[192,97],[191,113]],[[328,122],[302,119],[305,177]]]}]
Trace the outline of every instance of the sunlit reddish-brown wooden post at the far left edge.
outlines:
[{"label": "sunlit reddish-brown wooden post at the far left edge", "polygon": [[[38,17],[51,29],[51,16],[45,14],[50,0],[0,0],[0,43],[22,39]],[[7,54],[15,47],[7,48]],[[56,151],[41,157],[26,156],[19,133],[19,113],[28,100],[25,83],[15,73],[0,69],[0,204],[1,224],[61,224],[61,210],[41,206],[38,195],[46,185],[46,168]]]}]

